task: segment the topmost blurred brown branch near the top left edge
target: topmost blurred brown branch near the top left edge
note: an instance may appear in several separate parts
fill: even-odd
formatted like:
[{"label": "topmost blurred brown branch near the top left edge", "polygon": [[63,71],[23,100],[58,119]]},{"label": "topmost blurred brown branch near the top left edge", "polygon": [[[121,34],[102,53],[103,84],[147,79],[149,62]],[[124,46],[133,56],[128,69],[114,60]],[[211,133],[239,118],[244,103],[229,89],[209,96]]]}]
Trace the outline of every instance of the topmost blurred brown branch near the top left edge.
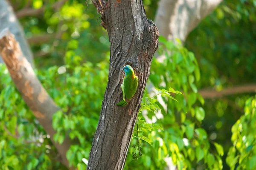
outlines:
[{"label": "topmost blurred brown branch near the top left edge", "polygon": [[[60,0],[60,1],[57,1],[56,3],[52,4],[51,8],[54,9],[54,10],[58,10],[61,6],[64,5],[64,3],[66,2],[67,0]],[[21,17],[27,17],[27,16],[37,16],[39,14],[43,14],[44,13],[44,10],[47,8],[47,6],[43,6],[39,9],[34,9],[34,8],[24,8],[24,9],[21,9],[20,11],[17,11],[16,13],[16,16],[17,18],[21,18]]]}]

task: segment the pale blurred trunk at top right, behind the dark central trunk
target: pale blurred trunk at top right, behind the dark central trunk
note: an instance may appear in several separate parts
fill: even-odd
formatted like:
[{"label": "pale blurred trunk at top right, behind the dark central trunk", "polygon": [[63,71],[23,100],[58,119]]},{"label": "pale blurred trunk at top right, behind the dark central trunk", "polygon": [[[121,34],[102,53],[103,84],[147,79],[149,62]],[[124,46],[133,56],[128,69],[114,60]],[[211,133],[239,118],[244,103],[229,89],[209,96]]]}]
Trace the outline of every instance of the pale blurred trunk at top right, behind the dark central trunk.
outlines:
[{"label": "pale blurred trunk at top right, behind the dark central trunk", "polygon": [[167,40],[178,38],[185,42],[188,34],[222,0],[160,0],[155,24],[161,36]]}]

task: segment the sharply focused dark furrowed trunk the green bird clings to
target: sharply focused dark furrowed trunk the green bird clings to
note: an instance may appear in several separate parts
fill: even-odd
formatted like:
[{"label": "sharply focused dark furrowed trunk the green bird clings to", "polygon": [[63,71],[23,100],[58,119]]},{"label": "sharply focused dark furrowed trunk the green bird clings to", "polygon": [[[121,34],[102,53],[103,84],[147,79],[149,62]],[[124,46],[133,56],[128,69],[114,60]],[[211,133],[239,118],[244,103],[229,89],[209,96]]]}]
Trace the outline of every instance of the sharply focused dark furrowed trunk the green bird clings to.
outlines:
[{"label": "sharply focused dark furrowed trunk the green bird clings to", "polygon": [[[93,0],[102,14],[102,26],[111,42],[108,85],[99,124],[90,151],[88,170],[121,170],[140,109],[150,66],[158,45],[158,30],[145,15],[142,0]],[[125,107],[122,99],[122,71],[131,65],[138,76],[138,89]]]}]

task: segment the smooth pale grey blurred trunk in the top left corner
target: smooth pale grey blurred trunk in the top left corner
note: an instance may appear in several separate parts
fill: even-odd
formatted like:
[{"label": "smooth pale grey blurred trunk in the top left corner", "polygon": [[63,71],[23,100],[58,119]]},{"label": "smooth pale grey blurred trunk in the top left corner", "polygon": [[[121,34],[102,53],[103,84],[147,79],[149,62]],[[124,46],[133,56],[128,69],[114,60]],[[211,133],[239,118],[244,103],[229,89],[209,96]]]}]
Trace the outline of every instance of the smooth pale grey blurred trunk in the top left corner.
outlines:
[{"label": "smooth pale grey blurred trunk in the top left corner", "polygon": [[[17,20],[12,7],[6,0],[0,0],[0,32],[4,28],[9,28],[12,34],[15,35],[16,40],[20,43],[20,48],[26,56],[26,59],[34,66],[33,54],[29,48],[29,45],[26,41],[26,38],[23,33],[23,29],[20,26],[19,21]],[[3,62],[3,59],[0,56],[0,63]]]}]

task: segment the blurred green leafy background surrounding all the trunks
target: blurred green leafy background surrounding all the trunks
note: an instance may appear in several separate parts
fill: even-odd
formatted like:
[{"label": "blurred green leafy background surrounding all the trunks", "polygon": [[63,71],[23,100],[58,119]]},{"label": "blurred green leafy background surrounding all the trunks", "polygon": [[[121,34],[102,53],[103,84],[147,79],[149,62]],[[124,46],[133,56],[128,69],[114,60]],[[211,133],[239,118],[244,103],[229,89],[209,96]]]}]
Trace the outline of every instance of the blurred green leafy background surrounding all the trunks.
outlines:
[{"label": "blurred green leafy background surrounding all the trunks", "polygon": [[[55,1],[10,3],[16,14],[46,7],[44,13],[19,21],[38,78],[63,111],[70,110],[55,114],[55,139],[63,142],[66,131],[78,139],[67,158],[85,169],[108,80],[110,42],[90,0],[69,0],[58,10],[51,8]],[[158,0],[143,3],[148,19],[154,20]],[[169,92],[173,88],[184,95],[174,94],[176,102],[158,92],[167,105],[164,109],[157,96],[145,92],[147,115],[139,114],[140,133],[134,131],[125,169],[163,170],[166,157],[172,157],[179,170],[256,169],[255,91],[214,97],[224,89],[256,85],[256,1],[225,0],[189,34],[184,46],[164,37],[160,42],[157,54],[165,54],[166,59],[153,60],[149,81],[155,88]],[[210,94],[200,95],[202,91]],[[155,116],[157,112],[162,117]],[[55,147],[3,64],[0,122],[1,169],[66,169],[55,161]]]}]

